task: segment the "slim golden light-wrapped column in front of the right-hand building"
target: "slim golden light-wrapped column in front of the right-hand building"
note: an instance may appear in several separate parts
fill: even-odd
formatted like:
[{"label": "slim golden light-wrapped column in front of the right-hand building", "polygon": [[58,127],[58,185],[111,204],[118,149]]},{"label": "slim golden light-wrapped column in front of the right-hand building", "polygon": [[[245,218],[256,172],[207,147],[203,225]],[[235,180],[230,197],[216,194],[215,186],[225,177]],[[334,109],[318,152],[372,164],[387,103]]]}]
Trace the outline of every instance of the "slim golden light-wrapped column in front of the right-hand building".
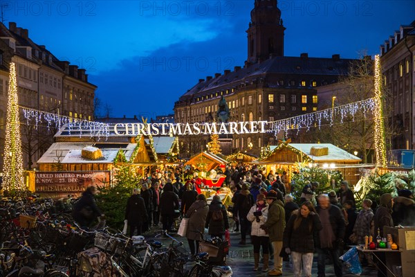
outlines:
[{"label": "slim golden light-wrapped column in front of the right-hand building", "polygon": [[385,120],[383,114],[382,71],[379,55],[375,56],[375,153],[376,165],[386,167]]}]

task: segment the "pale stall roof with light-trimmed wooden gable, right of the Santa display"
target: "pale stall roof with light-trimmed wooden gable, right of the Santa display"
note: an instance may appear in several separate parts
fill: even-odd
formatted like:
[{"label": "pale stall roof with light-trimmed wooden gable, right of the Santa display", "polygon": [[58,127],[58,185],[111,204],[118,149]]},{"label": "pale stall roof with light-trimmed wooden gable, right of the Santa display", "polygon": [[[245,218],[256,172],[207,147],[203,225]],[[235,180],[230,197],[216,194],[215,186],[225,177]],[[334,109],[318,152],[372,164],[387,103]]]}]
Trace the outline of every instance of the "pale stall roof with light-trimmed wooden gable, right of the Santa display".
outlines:
[{"label": "pale stall roof with light-trimmed wooden gable, right of the Santa display", "polygon": [[[328,148],[329,154],[314,156],[311,148]],[[281,143],[271,145],[270,156],[260,163],[297,163],[302,161],[313,161],[315,163],[360,163],[362,159],[338,148],[331,143]]]}]

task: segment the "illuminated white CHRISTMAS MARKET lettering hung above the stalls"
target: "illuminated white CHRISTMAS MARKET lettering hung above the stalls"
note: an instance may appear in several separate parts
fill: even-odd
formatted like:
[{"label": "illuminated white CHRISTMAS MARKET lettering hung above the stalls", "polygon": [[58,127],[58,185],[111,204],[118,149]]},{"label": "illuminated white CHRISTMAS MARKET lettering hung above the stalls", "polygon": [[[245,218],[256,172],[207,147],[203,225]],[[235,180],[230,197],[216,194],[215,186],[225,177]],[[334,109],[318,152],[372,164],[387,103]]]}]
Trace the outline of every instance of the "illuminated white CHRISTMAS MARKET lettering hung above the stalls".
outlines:
[{"label": "illuminated white CHRISTMAS MARKET lettering hung above the stalls", "polygon": [[230,123],[117,123],[113,132],[118,136],[180,136],[198,134],[259,134],[266,133],[267,121]]}]

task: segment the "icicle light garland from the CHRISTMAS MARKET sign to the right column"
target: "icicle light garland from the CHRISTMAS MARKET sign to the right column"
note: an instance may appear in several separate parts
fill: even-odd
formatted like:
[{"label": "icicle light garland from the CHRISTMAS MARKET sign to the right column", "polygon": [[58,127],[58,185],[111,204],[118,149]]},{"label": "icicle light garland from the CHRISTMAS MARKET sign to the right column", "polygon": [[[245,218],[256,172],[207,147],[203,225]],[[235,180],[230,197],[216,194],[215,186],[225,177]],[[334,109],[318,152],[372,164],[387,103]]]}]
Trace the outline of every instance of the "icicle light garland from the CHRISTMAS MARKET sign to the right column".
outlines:
[{"label": "icicle light garland from the CHRISTMAS MARKET sign to the right column", "polygon": [[369,98],[367,100],[353,102],[330,109],[323,109],[309,114],[302,114],[301,116],[294,116],[291,118],[268,122],[268,126],[270,126],[270,130],[268,130],[268,132],[273,132],[275,137],[277,137],[277,134],[280,131],[287,132],[288,129],[297,129],[298,134],[299,130],[302,128],[305,128],[307,131],[311,127],[318,127],[320,129],[323,125],[322,123],[324,122],[329,122],[332,126],[333,118],[335,116],[340,116],[340,123],[343,123],[344,118],[347,118],[348,116],[351,116],[354,121],[354,116],[357,111],[363,111],[363,115],[366,116],[367,113],[375,111],[375,109],[375,99]]}]

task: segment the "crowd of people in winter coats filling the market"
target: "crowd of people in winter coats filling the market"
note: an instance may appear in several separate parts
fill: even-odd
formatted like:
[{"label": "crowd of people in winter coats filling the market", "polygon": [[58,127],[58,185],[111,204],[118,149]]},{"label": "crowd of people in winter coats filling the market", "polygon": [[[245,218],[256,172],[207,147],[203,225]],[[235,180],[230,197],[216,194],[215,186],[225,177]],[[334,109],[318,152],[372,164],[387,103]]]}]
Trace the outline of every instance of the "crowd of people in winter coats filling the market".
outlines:
[{"label": "crowd of people in winter coats filling the market", "polygon": [[[190,176],[185,184],[180,177],[183,173]],[[311,276],[314,253],[317,253],[317,276],[325,276],[329,256],[335,276],[340,277],[343,274],[340,256],[348,246],[364,244],[366,235],[376,238],[378,230],[382,237],[386,236],[382,233],[384,226],[415,223],[415,202],[410,190],[398,190],[398,197],[385,193],[378,205],[364,199],[358,212],[347,181],[342,181],[338,192],[316,195],[319,184],[310,180],[302,189],[301,199],[295,202],[286,172],[278,175],[271,170],[266,174],[255,167],[228,167],[223,174],[226,176],[223,186],[233,191],[233,206],[228,210],[219,195],[214,195],[208,204],[205,195],[198,192],[192,172],[176,170],[148,175],[142,181],[141,190],[134,189],[128,199],[125,219],[129,234],[140,235],[152,224],[158,225],[160,219],[163,230],[173,232],[174,220],[186,217],[189,219],[186,238],[194,255],[206,233],[212,238],[223,238],[230,228],[228,214],[232,214],[233,231],[241,235],[239,244],[246,245],[250,238],[254,271],[260,270],[262,253],[261,271],[269,276],[282,275],[284,260],[291,260],[295,276]],[[86,191],[81,201],[91,204],[93,193]],[[93,213],[100,215],[95,204],[93,207]],[[75,207],[75,213],[82,217],[80,211],[80,205]],[[374,262],[369,255],[360,258],[368,265]],[[272,269],[270,260],[273,260]],[[384,256],[380,255],[380,260],[385,263]],[[381,263],[378,269],[378,276],[386,276],[387,269]]]}]

